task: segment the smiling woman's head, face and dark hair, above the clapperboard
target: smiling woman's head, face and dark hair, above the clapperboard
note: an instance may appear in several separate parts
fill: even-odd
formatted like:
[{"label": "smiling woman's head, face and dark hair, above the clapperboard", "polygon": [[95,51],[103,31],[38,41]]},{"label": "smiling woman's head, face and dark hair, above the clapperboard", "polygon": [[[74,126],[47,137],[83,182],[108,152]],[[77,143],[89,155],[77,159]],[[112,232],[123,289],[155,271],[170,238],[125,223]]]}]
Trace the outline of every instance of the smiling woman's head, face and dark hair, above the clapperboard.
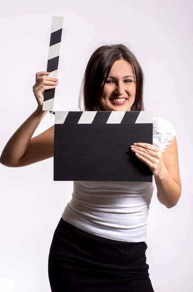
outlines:
[{"label": "smiling woman's head, face and dark hair, above the clapperboard", "polygon": [[144,73],[135,55],[123,44],[106,45],[90,57],[79,106],[83,95],[84,110],[144,110],[143,90]]}]

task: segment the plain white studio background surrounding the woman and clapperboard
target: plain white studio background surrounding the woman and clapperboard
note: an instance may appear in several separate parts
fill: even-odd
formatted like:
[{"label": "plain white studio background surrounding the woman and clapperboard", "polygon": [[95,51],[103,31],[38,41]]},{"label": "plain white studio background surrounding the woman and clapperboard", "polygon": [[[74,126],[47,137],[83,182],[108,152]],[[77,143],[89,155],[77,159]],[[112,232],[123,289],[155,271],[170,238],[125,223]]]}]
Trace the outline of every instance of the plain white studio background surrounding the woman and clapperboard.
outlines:
[{"label": "plain white studio background surrounding the woman and clapperboard", "polygon": [[[53,16],[64,16],[59,110],[78,110],[80,83],[97,47],[124,43],[145,73],[146,110],[177,129],[182,182],[167,209],[153,194],[147,263],[155,292],[192,292],[192,0],[10,1],[0,8],[0,152],[36,108],[35,73],[46,71]],[[34,135],[54,124],[47,114]],[[48,292],[48,253],[72,182],[53,182],[53,159],[21,168],[0,164],[0,291]]]}]

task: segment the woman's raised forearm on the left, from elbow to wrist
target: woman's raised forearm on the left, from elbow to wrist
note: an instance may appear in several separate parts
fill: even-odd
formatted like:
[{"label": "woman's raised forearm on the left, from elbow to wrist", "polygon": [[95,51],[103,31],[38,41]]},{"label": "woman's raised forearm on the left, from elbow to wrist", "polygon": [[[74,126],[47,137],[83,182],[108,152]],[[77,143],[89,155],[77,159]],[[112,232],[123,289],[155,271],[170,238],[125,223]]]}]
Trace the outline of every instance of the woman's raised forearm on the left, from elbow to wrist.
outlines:
[{"label": "woman's raised forearm on the left, from elbow to wrist", "polygon": [[47,111],[43,111],[38,107],[16,130],[1,153],[1,164],[11,166],[18,163],[28,149],[32,135],[46,113]]}]

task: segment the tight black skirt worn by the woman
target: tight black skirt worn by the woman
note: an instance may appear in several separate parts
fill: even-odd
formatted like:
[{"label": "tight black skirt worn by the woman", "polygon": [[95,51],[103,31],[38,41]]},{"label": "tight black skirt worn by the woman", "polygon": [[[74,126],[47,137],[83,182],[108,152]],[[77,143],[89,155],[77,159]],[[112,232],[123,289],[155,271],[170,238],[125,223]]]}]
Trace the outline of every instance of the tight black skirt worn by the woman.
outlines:
[{"label": "tight black skirt worn by the woman", "polygon": [[154,292],[147,245],[92,235],[60,219],[52,239],[52,292]]}]

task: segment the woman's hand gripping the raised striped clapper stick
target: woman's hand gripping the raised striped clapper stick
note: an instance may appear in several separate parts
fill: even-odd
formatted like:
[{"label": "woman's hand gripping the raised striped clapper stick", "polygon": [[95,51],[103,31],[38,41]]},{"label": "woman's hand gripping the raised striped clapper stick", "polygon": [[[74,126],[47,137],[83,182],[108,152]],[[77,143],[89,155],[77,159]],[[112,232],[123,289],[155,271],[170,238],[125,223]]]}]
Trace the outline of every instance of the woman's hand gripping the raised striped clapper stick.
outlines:
[{"label": "woman's hand gripping the raised striped clapper stick", "polygon": [[[44,91],[52,88],[56,88],[58,85],[58,79],[47,77],[49,72],[37,72],[36,73],[36,83],[33,85],[33,93],[35,95],[38,108],[42,109],[43,101],[44,101]],[[43,77],[46,76],[46,77]]]}]

